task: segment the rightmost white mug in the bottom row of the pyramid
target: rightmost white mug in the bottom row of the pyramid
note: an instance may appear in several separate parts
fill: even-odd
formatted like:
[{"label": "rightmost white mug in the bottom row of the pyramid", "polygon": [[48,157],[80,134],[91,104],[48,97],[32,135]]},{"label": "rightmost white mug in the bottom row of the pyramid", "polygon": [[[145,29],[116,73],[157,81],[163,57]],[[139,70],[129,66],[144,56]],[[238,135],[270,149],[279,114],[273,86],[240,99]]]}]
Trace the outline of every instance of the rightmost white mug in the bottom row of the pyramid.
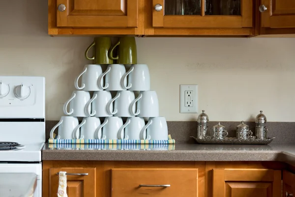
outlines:
[{"label": "rightmost white mug in the bottom row of the pyramid", "polygon": [[168,140],[168,127],[165,117],[149,118],[148,123],[140,132],[140,138],[147,140]]}]

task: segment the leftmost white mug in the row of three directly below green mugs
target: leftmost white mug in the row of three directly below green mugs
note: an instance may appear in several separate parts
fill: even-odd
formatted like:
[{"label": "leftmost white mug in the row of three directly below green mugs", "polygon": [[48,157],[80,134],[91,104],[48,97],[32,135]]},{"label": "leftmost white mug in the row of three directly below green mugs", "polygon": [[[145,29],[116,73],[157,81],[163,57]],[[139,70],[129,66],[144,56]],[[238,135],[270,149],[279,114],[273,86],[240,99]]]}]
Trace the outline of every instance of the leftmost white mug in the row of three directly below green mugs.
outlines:
[{"label": "leftmost white mug in the row of three directly below green mugs", "polygon": [[[85,65],[83,71],[75,79],[75,88],[84,91],[100,91],[103,90],[102,84],[98,86],[98,78],[102,75],[100,65]],[[82,85],[78,85],[79,78],[82,76]]]}]

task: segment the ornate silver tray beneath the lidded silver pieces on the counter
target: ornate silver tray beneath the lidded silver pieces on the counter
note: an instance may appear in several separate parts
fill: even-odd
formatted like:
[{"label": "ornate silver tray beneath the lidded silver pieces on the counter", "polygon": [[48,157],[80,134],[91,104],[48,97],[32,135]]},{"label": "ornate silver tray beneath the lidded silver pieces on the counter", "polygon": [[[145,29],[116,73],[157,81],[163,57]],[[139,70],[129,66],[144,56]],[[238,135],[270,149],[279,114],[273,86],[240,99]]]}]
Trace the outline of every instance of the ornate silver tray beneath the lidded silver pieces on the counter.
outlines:
[{"label": "ornate silver tray beneath the lidded silver pieces on the counter", "polygon": [[195,137],[193,138],[199,144],[269,144],[275,137],[267,139],[237,139],[236,137],[226,137],[224,139],[197,139]]}]

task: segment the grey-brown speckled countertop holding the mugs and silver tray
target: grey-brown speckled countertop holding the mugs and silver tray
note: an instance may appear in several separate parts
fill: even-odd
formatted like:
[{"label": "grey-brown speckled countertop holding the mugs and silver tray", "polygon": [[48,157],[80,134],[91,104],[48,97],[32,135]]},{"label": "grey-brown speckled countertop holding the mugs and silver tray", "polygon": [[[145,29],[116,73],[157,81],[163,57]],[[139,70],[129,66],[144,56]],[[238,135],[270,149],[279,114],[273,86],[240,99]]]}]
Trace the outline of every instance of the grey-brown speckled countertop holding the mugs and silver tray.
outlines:
[{"label": "grey-brown speckled countertop holding the mugs and silver tray", "polygon": [[45,144],[43,160],[279,161],[295,164],[295,144]]}]

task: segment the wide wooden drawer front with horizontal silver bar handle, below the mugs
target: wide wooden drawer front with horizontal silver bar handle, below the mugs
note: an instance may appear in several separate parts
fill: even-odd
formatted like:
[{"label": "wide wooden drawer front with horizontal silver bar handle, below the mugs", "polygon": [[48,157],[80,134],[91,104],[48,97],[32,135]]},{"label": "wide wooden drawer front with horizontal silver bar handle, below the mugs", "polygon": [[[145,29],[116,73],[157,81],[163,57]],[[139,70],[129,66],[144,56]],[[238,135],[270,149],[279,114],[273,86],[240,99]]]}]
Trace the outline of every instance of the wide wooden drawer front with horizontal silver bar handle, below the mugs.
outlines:
[{"label": "wide wooden drawer front with horizontal silver bar handle, below the mugs", "polygon": [[112,197],[197,197],[197,187],[198,169],[112,169]]}]

